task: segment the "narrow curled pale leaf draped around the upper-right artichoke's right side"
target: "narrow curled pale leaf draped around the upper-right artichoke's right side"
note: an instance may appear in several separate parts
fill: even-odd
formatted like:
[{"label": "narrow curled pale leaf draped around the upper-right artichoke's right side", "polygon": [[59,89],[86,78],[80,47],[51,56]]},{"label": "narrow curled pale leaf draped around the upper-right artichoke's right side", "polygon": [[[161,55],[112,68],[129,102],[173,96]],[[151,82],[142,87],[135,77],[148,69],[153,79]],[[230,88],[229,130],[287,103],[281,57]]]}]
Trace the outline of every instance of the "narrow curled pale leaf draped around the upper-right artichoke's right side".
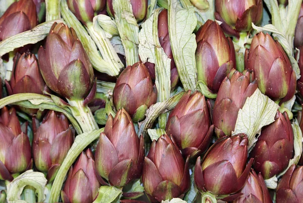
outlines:
[{"label": "narrow curled pale leaf draped around the upper-right artichoke's right side", "polygon": [[272,24],[265,25],[264,27],[258,27],[254,23],[252,23],[252,27],[255,30],[257,30],[258,32],[268,31],[268,32],[272,32],[273,33],[274,38],[278,40],[278,42],[283,47],[285,53],[287,54],[287,56],[288,56],[288,58],[289,58],[289,60],[291,62],[292,69],[295,72],[296,79],[299,79],[300,78],[300,69],[299,69],[297,61],[292,56],[292,54],[293,54],[293,51],[292,51],[292,41],[291,41],[291,44],[289,44],[286,36],[283,33],[281,33]]}]

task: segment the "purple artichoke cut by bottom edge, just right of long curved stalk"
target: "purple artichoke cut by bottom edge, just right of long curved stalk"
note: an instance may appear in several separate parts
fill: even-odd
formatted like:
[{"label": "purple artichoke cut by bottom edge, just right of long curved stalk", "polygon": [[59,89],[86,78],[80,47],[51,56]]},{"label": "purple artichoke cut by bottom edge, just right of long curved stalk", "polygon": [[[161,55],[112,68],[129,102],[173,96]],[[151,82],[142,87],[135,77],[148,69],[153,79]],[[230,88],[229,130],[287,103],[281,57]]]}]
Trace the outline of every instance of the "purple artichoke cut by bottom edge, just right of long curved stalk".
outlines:
[{"label": "purple artichoke cut by bottom edge, just right of long curved stalk", "polygon": [[61,191],[63,202],[93,202],[101,186],[96,177],[94,157],[90,149],[79,155],[74,166],[68,172],[64,188]]}]

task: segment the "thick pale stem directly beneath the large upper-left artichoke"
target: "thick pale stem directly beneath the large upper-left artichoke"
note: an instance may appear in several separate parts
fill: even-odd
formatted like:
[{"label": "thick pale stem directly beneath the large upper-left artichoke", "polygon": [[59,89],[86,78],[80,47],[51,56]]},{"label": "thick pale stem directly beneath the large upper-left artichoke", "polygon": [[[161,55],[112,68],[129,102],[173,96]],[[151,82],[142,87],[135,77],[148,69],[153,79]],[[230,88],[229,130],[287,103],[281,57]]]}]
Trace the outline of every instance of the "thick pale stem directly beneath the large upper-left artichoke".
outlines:
[{"label": "thick pale stem directly beneath the large upper-left artichoke", "polygon": [[68,103],[83,132],[99,129],[91,110],[87,106],[83,106],[83,100],[68,100]]}]

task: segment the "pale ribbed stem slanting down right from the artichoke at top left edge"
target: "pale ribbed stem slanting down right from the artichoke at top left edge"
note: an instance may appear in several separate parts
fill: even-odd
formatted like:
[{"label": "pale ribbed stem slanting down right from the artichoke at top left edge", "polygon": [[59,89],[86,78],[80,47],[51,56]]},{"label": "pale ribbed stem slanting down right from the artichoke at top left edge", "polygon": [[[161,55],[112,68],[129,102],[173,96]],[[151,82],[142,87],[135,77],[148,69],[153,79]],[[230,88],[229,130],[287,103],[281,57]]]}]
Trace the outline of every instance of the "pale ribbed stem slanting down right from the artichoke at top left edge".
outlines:
[{"label": "pale ribbed stem slanting down right from the artichoke at top left edge", "polygon": [[103,59],[109,63],[110,66],[108,68],[112,69],[112,71],[118,75],[124,65],[112,46],[109,38],[106,37],[105,31],[100,27],[98,27],[96,30],[92,22],[86,23],[86,29],[97,45]]}]

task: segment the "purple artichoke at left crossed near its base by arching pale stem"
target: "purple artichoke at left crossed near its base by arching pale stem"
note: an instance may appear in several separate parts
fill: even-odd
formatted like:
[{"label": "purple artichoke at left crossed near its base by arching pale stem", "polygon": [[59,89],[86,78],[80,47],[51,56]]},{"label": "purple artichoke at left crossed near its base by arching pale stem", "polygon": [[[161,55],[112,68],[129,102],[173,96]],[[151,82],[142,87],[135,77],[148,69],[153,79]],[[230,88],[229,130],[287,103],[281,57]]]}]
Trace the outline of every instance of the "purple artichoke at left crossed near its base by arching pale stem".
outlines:
[{"label": "purple artichoke at left crossed near its base by arching pale stem", "polygon": [[[47,86],[40,73],[38,60],[30,52],[14,57],[14,69],[10,82],[5,82],[9,95],[19,93],[36,93],[43,94],[48,91]],[[24,112],[33,115],[38,109],[20,107]]]}]

